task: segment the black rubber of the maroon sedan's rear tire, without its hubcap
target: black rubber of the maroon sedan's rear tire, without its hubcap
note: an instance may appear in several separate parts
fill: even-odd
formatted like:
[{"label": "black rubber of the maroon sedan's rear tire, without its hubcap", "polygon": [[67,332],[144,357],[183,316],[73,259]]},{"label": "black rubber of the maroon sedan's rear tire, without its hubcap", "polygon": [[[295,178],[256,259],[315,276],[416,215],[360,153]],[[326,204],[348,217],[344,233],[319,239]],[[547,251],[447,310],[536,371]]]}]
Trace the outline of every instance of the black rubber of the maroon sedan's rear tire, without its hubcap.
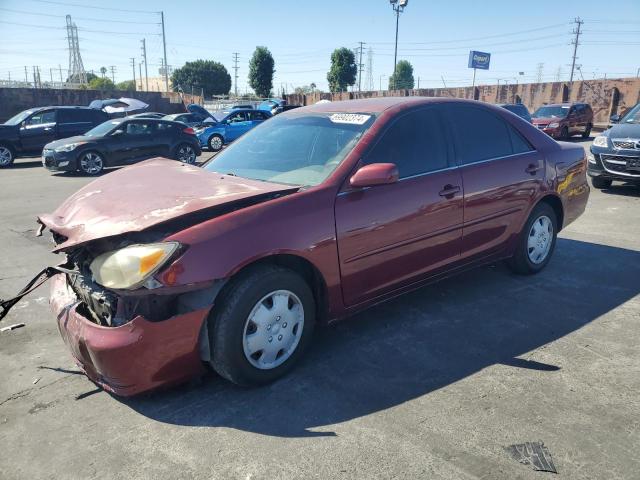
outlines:
[{"label": "black rubber of the maroon sedan's rear tire, without its hubcap", "polygon": [[[551,234],[551,245],[546,256],[539,263],[536,263],[531,260],[529,255],[529,236],[532,232],[533,224],[539,221],[542,217],[547,217],[551,221],[553,232]],[[524,227],[518,236],[518,244],[516,245],[514,255],[507,262],[511,270],[521,275],[533,275],[540,272],[547,266],[547,263],[549,263],[549,260],[553,255],[553,251],[556,247],[557,236],[558,219],[556,217],[556,212],[548,203],[539,203],[533,209],[531,215],[529,215],[529,218],[524,224]]]}]

